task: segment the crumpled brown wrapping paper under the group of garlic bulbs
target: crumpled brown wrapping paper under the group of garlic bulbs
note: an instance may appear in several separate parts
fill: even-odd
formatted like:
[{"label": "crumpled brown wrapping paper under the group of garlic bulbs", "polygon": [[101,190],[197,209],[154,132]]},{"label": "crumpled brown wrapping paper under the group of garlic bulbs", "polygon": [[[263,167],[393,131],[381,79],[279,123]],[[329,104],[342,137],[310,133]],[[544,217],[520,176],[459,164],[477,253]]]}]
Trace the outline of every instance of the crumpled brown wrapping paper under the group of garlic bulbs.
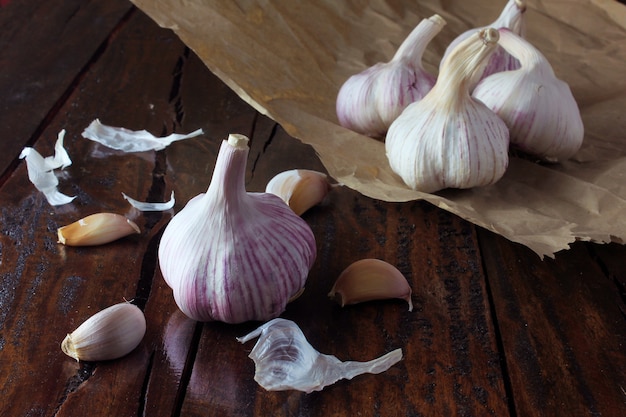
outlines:
[{"label": "crumpled brown wrapping paper under the group of garlic bulbs", "polygon": [[505,0],[133,2],[240,97],[312,145],[333,178],[366,196],[427,200],[542,257],[577,239],[626,241],[626,7],[615,1],[528,1],[527,39],[581,109],[585,141],[576,157],[558,165],[512,158],[493,186],[436,194],[408,189],[381,141],[339,126],[336,94],[350,75],[388,61],[435,13],[447,21],[424,55],[436,74],[448,43],[490,24]]}]

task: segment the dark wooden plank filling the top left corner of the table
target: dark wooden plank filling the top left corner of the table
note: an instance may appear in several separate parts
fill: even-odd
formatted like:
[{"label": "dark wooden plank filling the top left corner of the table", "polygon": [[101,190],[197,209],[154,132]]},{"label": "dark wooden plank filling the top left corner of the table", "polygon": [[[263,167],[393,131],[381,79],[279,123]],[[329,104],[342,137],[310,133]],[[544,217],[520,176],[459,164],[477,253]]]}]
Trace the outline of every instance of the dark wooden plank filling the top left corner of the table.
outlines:
[{"label": "dark wooden plank filling the top left corner of the table", "polygon": [[25,0],[2,7],[0,183],[132,7],[126,0]]}]

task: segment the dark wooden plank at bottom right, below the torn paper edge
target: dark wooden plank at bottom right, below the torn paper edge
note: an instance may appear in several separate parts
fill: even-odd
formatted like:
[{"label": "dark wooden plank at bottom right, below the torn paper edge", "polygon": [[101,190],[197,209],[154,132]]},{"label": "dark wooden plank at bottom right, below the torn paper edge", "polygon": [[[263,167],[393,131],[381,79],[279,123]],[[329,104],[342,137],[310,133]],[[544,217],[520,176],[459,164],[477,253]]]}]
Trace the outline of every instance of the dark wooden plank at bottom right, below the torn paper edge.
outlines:
[{"label": "dark wooden plank at bottom right, below the torn paper edge", "polygon": [[624,303],[587,245],[540,261],[480,236],[517,415],[624,415]]}]

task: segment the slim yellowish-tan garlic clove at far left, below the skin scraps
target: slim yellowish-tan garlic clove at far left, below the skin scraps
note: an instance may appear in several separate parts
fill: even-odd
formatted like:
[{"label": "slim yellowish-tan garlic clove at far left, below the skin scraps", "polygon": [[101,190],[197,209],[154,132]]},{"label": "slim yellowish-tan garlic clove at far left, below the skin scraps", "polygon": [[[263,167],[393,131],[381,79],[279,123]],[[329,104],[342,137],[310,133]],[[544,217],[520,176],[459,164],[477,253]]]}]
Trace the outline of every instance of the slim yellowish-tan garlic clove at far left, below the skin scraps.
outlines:
[{"label": "slim yellowish-tan garlic clove at far left, below the skin scraps", "polygon": [[103,245],[136,233],[139,226],[115,213],[92,214],[57,230],[59,243],[67,246]]}]

